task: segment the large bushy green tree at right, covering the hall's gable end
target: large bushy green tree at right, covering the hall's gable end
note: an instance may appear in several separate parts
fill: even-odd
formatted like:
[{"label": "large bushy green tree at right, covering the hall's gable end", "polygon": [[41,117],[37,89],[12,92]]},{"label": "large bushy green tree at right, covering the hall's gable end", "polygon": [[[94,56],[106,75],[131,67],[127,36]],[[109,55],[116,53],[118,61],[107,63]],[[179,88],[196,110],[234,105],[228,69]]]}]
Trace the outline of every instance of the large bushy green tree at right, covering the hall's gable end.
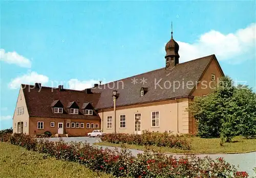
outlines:
[{"label": "large bushy green tree at right, covering the hall's gable end", "polygon": [[198,121],[201,137],[256,135],[256,94],[248,86],[233,86],[223,77],[207,97],[195,97],[189,111]]}]

